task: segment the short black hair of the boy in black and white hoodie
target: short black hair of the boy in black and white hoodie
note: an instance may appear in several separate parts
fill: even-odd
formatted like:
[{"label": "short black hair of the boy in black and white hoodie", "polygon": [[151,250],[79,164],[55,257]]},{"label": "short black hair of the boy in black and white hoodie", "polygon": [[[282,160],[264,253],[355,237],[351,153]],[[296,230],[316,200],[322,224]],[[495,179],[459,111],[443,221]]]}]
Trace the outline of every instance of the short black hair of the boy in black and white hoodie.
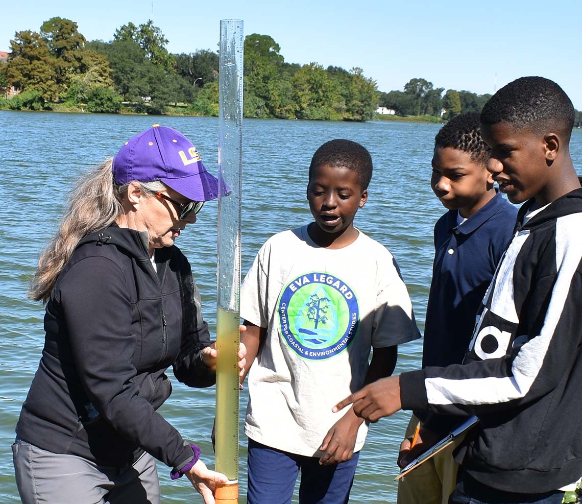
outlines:
[{"label": "short black hair of the boy in black and white hoodie", "polygon": [[574,127],[574,106],[553,80],[520,77],[489,98],[481,111],[481,122],[486,125],[507,122],[538,133],[556,130],[567,143]]}]

